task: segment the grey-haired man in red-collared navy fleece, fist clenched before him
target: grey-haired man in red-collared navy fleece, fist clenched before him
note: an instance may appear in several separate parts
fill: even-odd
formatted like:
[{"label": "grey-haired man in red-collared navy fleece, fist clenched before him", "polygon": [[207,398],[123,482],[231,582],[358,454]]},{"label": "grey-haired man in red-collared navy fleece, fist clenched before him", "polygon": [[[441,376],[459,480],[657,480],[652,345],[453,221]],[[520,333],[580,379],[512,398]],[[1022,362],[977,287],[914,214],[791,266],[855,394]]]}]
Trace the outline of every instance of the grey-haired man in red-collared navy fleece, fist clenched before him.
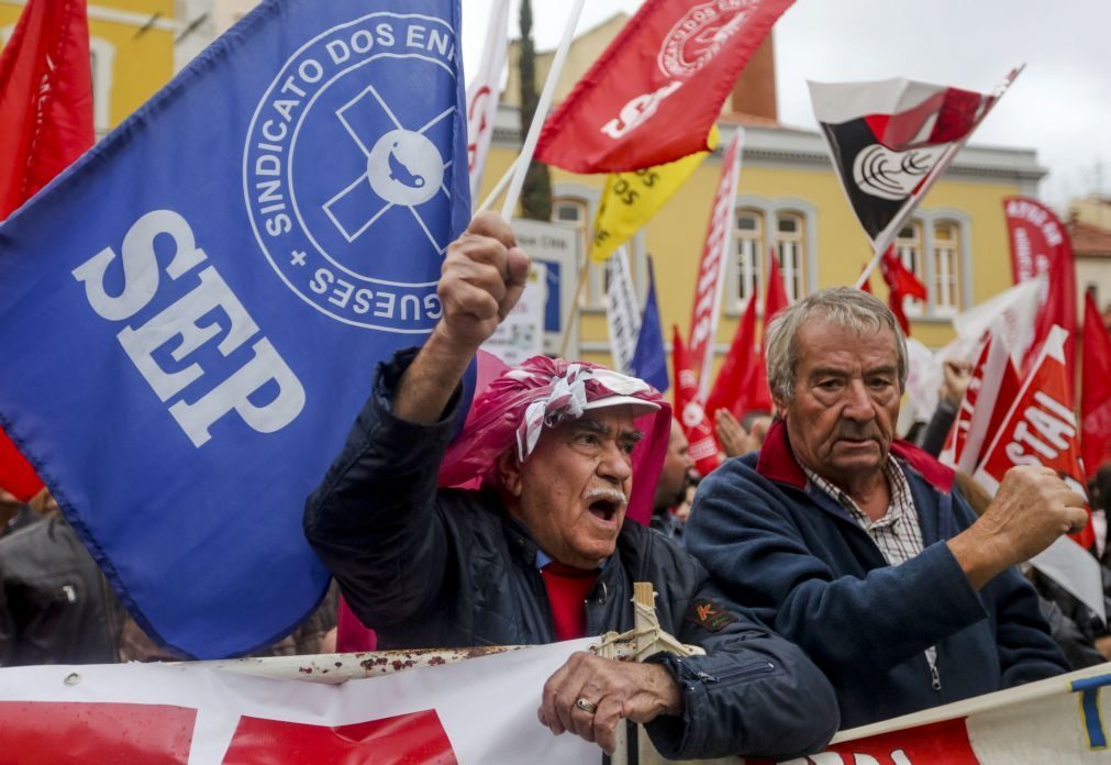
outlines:
[{"label": "grey-haired man in red-collared navy fleece, fist clenched before him", "polygon": [[951,470],[892,443],[907,351],[873,296],[817,292],[768,339],[782,419],[702,483],[687,525],[723,592],[809,653],[845,727],[1065,672],[1013,566],[1082,528],[1083,498],[1024,466],[977,519]]}]

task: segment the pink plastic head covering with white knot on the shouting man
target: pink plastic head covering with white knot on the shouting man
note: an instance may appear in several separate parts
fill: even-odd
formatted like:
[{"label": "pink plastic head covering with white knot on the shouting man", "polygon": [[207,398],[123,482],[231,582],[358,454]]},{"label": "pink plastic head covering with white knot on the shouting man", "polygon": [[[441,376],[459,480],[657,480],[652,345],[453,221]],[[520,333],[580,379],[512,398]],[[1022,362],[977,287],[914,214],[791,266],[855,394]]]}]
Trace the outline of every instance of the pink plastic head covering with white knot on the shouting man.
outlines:
[{"label": "pink plastic head covering with white knot on the shouting man", "polygon": [[462,433],[448,447],[439,485],[461,486],[487,479],[507,449],[516,447],[521,461],[528,459],[546,426],[618,404],[659,407],[635,419],[645,437],[632,454],[633,483],[627,516],[647,524],[671,434],[671,406],[647,383],[587,361],[534,356],[490,383],[471,405]]}]

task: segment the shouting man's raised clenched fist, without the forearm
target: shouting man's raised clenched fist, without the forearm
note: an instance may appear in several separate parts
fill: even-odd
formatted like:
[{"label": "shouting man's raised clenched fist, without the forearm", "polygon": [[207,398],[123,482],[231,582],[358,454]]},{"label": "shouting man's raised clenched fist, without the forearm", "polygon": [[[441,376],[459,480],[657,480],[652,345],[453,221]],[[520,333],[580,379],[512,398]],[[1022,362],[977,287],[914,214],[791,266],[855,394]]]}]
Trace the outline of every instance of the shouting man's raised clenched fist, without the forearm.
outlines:
[{"label": "shouting man's raised clenched fist, without the forearm", "polygon": [[473,354],[517,305],[529,277],[529,256],[496,212],[478,215],[448,247],[437,295],[443,319],[436,331]]}]

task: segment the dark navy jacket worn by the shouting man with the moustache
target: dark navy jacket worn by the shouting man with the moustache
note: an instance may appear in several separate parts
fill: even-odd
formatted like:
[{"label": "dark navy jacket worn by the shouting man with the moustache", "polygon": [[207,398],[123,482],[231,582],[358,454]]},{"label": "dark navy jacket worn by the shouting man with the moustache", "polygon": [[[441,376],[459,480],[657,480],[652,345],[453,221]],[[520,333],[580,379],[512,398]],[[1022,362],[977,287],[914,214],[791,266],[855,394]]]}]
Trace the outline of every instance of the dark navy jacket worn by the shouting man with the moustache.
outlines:
[{"label": "dark navy jacket worn by the shouting man with the moustache", "polygon": [[[402,352],[378,367],[343,451],[309,498],[309,542],[351,610],[377,629],[380,648],[553,642],[528,530],[493,493],[437,489],[458,394],[437,425],[390,413],[410,359]],[[685,703],[682,718],[645,725],[655,747],[673,758],[787,758],[822,748],[838,726],[829,680],[797,646],[721,608],[708,579],[675,543],[627,520],[587,598],[589,634],[624,632],[633,627],[633,583],[651,582],[660,625],[708,652],[650,657],[671,672]],[[541,688],[531,692],[539,705]]]}]

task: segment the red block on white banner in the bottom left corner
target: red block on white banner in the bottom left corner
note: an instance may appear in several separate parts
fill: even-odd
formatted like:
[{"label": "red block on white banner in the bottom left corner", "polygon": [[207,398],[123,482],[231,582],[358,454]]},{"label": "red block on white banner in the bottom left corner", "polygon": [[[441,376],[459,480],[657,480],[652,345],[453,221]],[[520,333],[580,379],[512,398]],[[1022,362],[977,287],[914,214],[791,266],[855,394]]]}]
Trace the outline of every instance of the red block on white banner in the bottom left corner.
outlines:
[{"label": "red block on white banner in the bottom left corner", "polygon": [[154,704],[0,702],[0,762],[184,765],[196,717]]}]

